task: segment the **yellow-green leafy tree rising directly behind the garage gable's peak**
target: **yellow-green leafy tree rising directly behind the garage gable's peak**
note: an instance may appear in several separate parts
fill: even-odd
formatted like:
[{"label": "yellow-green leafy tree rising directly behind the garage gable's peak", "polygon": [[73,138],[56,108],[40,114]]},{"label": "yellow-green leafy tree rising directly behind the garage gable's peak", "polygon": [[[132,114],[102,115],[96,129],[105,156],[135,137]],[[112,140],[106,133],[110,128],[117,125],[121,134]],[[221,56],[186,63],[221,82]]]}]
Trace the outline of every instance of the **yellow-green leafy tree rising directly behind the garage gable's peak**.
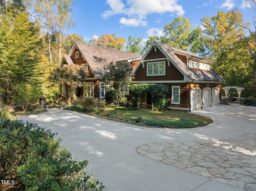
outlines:
[{"label": "yellow-green leafy tree rising directly behind the garage gable's peak", "polygon": [[186,17],[178,16],[173,22],[164,26],[164,37],[161,42],[172,47],[188,50],[191,23]]}]

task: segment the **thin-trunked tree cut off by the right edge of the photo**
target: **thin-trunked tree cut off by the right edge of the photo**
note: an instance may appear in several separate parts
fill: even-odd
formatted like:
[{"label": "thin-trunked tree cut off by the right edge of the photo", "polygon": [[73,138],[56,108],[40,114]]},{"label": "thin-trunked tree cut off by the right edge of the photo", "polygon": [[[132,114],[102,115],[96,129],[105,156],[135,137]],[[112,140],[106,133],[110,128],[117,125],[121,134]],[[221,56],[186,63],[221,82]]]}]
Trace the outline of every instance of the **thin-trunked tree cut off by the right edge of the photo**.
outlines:
[{"label": "thin-trunked tree cut off by the right edge of the photo", "polygon": [[[247,8],[250,8],[254,11],[256,14],[256,0],[245,0],[247,4]],[[249,33],[250,37],[246,37],[248,49],[250,52],[250,55],[253,59],[253,69],[252,69],[252,97],[256,98],[256,19],[255,15],[252,16],[253,18],[253,28],[251,29],[248,25],[242,25],[242,27],[246,28]]]}]

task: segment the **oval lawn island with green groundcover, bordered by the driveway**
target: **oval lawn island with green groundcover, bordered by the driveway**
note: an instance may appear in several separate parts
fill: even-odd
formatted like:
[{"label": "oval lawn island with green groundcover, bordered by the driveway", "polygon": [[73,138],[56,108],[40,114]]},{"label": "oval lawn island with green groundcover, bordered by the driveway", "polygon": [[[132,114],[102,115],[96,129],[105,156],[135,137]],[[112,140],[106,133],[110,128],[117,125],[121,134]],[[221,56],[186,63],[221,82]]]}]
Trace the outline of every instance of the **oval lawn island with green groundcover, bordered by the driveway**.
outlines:
[{"label": "oval lawn island with green groundcover, bordered by the driveway", "polygon": [[138,126],[158,128],[195,128],[212,123],[208,117],[196,115],[182,110],[166,110],[161,112],[148,109],[125,110],[125,108],[108,107],[110,120],[134,124]]}]

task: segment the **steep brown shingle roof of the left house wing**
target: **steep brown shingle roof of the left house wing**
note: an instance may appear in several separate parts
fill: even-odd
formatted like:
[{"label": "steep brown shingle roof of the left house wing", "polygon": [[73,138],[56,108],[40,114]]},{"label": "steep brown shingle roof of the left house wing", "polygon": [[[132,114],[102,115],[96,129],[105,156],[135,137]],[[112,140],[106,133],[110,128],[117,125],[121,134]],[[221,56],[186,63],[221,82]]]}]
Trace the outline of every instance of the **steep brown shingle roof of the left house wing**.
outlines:
[{"label": "steep brown shingle roof of the left house wing", "polygon": [[107,66],[110,62],[128,61],[130,59],[140,60],[142,57],[140,54],[120,51],[78,41],[75,41],[75,45],[89,64],[90,68],[94,71],[96,77],[103,76],[104,67]]}]

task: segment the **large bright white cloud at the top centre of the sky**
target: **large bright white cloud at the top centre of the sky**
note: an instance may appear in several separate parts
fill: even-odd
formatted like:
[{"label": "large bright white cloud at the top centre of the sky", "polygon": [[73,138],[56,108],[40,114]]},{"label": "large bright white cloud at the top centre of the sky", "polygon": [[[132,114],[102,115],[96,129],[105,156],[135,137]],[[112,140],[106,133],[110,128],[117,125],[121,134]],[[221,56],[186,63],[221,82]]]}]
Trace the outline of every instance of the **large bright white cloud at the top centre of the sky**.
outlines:
[{"label": "large bright white cloud at the top centre of the sky", "polygon": [[[182,16],[185,11],[183,7],[177,4],[178,0],[107,0],[110,10],[104,11],[103,18],[109,18],[116,14],[123,14],[128,18],[122,17],[120,23],[125,26],[146,26],[146,16],[148,14],[158,13],[164,14],[166,12],[176,13]],[[132,25],[135,24],[135,25]]]}]

